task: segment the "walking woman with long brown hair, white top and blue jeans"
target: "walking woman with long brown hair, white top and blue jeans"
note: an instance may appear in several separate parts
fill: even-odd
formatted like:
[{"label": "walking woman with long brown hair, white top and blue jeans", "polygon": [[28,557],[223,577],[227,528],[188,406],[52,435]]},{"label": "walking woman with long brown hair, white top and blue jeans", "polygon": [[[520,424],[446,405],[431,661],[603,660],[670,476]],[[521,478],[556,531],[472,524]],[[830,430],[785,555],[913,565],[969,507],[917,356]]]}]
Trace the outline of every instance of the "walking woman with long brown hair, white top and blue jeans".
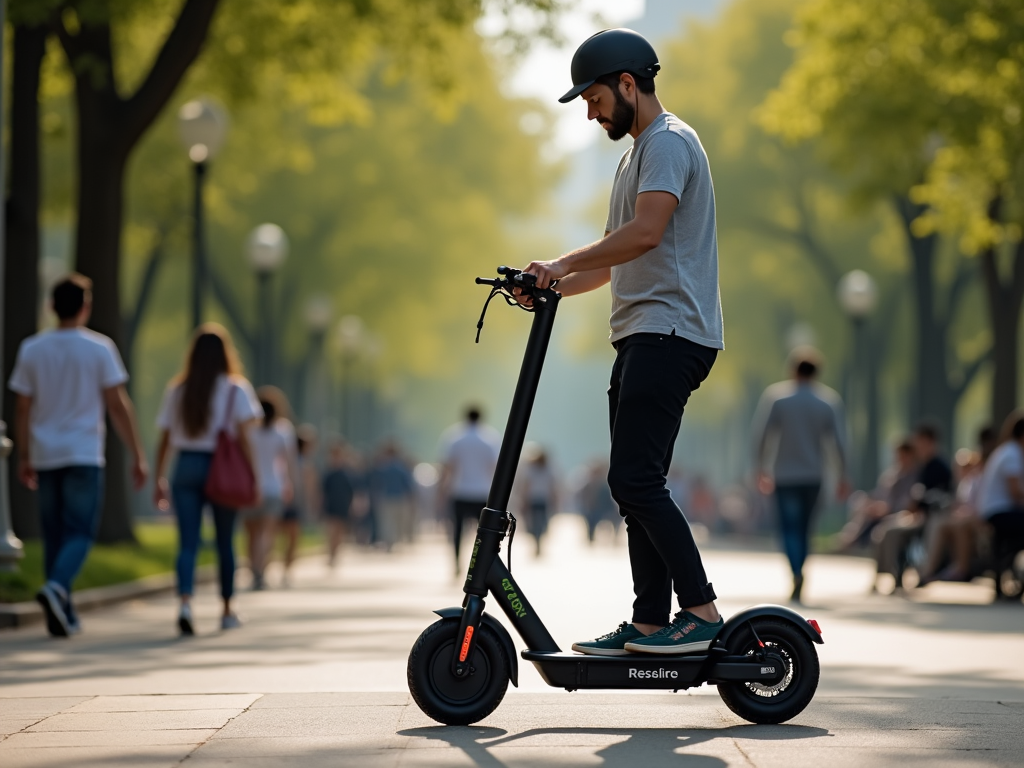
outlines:
[{"label": "walking woman with long brown hair, white top and blue jeans", "polygon": [[[196,574],[196,555],[200,544],[206,480],[210,473],[217,433],[226,429],[236,436],[243,454],[253,464],[248,440],[250,427],[262,417],[262,410],[252,385],[242,375],[242,366],[227,330],[216,323],[200,326],[193,336],[184,370],[171,380],[164,392],[157,426],[156,488],[154,501],[160,509],[173,502],[178,521],[178,557],[176,563],[178,595],[181,607],[178,629],[182,635],[194,635],[191,596]],[[165,476],[167,457],[171,450],[178,454],[171,478]],[[220,567],[220,596],[223,613],[220,628],[240,626],[231,611],[234,593],[234,520],[237,510],[211,504],[217,540],[217,561]]]}]

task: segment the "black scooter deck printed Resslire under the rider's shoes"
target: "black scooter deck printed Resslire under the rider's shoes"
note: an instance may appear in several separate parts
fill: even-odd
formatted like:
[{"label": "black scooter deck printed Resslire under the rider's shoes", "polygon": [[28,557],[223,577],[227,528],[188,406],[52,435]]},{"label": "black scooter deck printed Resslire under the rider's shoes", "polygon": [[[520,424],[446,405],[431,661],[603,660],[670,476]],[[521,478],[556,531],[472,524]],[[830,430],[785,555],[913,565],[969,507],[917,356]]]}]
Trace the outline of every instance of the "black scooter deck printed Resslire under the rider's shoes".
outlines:
[{"label": "black scooter deck printed Resslire under the rider's shoes", "polygon": [[544,682],[556,688],[648,688],[678,690],[702,683],[757,682],[772,685],[785,674],[775,659],[715,654],[591,656],[582,653],[545,653],[524,650]]}]

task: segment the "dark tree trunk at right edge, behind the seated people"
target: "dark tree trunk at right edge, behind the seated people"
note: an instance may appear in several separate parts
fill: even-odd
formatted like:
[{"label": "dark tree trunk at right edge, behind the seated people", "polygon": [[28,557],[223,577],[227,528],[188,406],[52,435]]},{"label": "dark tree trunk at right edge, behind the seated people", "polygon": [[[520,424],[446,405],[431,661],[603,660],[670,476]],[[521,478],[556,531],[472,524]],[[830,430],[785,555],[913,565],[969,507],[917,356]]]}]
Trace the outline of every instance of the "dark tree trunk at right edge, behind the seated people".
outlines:
[{"label": "dark tree trunk at right edge, behind the seated people", "polygon": [[1021,306],[1024,303],[1024,243],[1014,249],[1009,280],[999,274],[994,248],[981,254],[992,327],[992,424],[996,429],[1017,407]]}]

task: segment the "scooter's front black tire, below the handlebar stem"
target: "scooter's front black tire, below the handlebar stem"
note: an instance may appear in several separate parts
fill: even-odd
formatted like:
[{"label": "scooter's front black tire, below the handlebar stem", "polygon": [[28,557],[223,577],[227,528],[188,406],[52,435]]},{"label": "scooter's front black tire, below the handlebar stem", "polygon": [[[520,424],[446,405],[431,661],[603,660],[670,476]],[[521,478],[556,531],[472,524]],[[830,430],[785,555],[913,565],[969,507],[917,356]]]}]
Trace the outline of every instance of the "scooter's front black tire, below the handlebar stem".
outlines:
[{"label": "scooter's front black tire, below the handlebar stem", "polygon": [[427,627],[409,653],[409,691],[424,714],[444,725],[483,720],[505,697],[510,664],[494,630],[480,625],[466,679],[452,674],[461,620],[441,618]]}]

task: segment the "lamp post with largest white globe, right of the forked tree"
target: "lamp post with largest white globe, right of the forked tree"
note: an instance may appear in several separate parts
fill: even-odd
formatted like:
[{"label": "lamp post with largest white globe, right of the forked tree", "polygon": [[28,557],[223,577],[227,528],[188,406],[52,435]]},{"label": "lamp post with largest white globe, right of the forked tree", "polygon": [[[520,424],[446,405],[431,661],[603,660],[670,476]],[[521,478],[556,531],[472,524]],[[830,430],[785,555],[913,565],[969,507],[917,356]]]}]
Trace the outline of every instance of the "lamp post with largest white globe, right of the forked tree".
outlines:
[{"label": "lamp post with largest white globe, right of the forked tree", "polygon": [[188,152],[196,177],[193,202],[193,328],[203,322],[203,294],[206,291],[206,240],[203,220],[203,182],[207,163],[220,152],[227,133],[227,114],[216,103],[198,98],[178,110],[178,133]]}]

